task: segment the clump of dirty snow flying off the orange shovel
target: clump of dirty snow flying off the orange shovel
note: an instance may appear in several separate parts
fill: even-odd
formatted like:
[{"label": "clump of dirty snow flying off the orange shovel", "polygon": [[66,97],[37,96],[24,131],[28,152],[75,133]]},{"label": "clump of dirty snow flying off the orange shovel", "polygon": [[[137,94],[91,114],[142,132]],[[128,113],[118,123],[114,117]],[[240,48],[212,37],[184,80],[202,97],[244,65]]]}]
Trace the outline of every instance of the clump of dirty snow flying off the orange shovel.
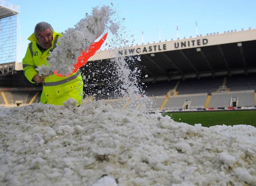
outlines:
[{"label": "clump of dirty snow flying off the orange shovel", "polygon": [[[87,51],[89,46],[106,30],[111,15],[109,6],[93,8],[92,15],[86,14],[75,28],[68,28],[63,37],[58,39],[59,45],[51,52],[48,65],[42,65],[36,70],[39,74],[45,75],[51,71],[57,70],[63,76],[68,76],[74,69],[73,65],[77,62],[77,58],[81,55],[81,51]],[[117,25],[111,21],[109,26],[113,33],[117,31]]]}]

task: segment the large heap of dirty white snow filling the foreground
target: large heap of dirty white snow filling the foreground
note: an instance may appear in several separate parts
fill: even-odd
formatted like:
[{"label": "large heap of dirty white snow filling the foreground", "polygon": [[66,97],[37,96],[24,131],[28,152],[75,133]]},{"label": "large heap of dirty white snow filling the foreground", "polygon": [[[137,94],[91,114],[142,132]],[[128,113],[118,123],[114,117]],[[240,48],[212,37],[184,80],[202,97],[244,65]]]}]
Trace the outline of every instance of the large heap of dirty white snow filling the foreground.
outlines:
[{"label": "large heap of dirty white snow filling the foreground", "polygon": [[256,186],[256,128],[202,127],[113,109],[0,107],[1,186]]}]

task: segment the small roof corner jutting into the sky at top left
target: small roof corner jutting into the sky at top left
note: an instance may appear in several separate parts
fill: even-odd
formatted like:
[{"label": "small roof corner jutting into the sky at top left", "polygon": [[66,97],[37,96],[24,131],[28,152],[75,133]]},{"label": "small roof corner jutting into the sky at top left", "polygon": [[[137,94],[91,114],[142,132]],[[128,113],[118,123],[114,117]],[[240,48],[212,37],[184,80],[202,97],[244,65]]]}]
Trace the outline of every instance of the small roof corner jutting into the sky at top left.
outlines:
[{"label": "small roof corner jutting into the sky at top left", "polygon": [[20,13],[20,6],[0,0],[0,19]]}]

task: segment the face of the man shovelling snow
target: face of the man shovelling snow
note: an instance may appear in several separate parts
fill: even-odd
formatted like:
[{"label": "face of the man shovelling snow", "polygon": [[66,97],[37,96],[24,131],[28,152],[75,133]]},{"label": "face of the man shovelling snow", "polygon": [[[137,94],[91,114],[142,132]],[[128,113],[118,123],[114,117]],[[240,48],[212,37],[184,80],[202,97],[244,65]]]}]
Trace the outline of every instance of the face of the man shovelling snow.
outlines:
[{"label": "face of the man shovelling snow", "polygon": [[42,48],[48,49],[51,47],[53,32],[50,30],[50,28],[46,28],[44,31],[36,31],[35,35]]}]

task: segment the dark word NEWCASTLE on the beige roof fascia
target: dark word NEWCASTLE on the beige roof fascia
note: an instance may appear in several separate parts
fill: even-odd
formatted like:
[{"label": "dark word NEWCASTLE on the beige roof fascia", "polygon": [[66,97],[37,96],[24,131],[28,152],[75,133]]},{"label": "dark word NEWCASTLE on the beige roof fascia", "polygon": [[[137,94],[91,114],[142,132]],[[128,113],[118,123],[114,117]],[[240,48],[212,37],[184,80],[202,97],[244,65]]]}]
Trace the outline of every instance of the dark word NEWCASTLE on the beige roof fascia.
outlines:
[{"label": "dark word NEWCASTLE on the beige roof fascia", "polygon": [[140,54],[144,52],[159,52],[166,50],[166,44],[163,45],[153,45],[153,46],[145,46],[145,47],[138,47],[138,48],[131,48],[118,51],[119,55],[127,55],[127,54]]}]

